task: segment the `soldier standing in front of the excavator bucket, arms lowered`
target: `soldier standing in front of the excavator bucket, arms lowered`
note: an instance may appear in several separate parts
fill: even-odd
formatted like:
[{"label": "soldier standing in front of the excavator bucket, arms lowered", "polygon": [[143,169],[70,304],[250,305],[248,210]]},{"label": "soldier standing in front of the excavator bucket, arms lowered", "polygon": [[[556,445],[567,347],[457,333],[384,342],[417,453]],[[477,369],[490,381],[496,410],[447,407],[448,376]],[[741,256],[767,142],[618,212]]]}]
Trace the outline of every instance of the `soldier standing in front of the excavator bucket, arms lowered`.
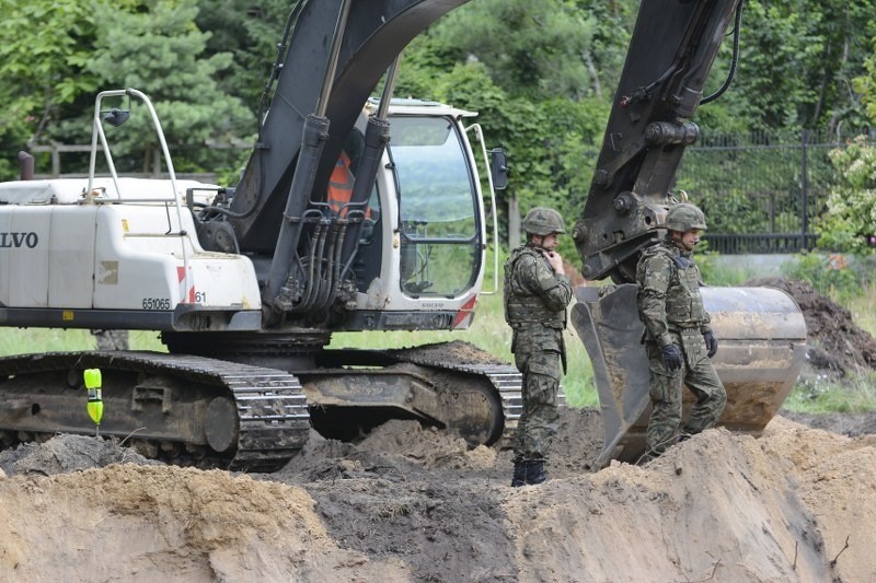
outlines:
[{"label": "soldier standing in front of the excavator bucket, arms lowered", "polygon": [[[652,415],[647,431],[647,462],[676,441],[714,427],[727,392],[710,360],[718,342],[700,295],[702,277],[692,250],[706,229],[703,212],[678,203],[666,215],[666,238],[647,249],[636,266],[638,317],[650,369]],[[681,428],[682,384],[696,396]]]}]

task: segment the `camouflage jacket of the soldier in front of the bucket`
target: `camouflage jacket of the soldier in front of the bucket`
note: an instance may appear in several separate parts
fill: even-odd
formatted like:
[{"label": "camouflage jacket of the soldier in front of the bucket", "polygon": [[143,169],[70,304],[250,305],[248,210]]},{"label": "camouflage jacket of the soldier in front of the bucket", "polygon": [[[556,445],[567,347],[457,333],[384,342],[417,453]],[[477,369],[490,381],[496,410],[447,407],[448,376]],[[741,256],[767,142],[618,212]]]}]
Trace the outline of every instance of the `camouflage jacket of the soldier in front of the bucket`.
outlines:
[{"label": "camouflage jacket of the soldier in front of the bucket", "polygon": [[670,331],[698,328],[711,331],[712,318],[703,306],[700,269],[690,253],[671,241],[648,248],[636,266],[638,317],[645,339],[660,347],[672,342]]}]

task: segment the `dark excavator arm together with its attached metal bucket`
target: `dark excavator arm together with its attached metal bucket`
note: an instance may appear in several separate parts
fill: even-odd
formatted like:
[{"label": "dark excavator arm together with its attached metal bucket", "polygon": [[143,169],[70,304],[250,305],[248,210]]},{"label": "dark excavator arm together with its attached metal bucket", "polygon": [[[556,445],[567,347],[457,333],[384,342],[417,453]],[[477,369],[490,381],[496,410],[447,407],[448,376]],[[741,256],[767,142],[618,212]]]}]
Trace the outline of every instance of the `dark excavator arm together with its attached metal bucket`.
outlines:
[{"label": "dark excavator arm together with its attached metal bucket", "polygon": [[[636,307],[636,263],[664,231],[676,171],[699,127],[691,121],[740,0],[643,1],[590,193],[573,238],[583,275],[572,322],[593,366],[606,441],[595,460],[635,463],[645,451],[649,371]],[[734,63],[736,55],[734,55]],[[730,68],[733,71],[734,67]],[[718,95],[726,89],[731,72]],[[768,288],[703,288],[721,338],[713,364],[727,389],[718,423],[759,435],[791,392],[805,358],[806,324],[794,300]],[[685,392],[684,415],[692,406]]]}]

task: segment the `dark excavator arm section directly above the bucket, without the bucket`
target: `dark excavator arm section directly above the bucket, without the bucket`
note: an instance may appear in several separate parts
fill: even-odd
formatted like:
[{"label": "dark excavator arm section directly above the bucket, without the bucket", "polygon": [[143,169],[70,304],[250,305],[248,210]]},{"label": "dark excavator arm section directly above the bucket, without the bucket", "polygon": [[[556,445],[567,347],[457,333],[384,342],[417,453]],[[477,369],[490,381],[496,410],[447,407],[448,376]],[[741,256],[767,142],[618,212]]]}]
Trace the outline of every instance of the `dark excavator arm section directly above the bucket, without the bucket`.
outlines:
[{"label": "dark excavator arm section directly above the bucket, without the bucket", "polygon": [[[642,2],[590,193],[573,237],[587,279],[634,281],[662,226],[691,118],[740,0]],[[738,21],[737,30],[738,33]]]}]

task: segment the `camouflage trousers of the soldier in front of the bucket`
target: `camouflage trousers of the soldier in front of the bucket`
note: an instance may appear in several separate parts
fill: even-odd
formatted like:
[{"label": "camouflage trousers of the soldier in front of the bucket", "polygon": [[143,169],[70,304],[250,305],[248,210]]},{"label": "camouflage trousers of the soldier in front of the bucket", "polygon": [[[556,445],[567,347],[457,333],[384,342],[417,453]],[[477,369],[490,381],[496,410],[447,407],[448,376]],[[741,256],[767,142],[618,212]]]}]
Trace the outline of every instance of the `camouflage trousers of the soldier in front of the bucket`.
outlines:
[{"label": "camouflage trousers of the soldier in front of the bucket", "polygon": [[[656,342],[645,342],[652,403],[646,445],[648,454],[654,456],[676,443],[679,429],[682,434],[693,435],[714,427],[727,404],[727,392],[706,355],[702,336],[699,333],[683,337],[673,334],[673,338],[684,354],[684,365],[676,371],[666,368]],[[683,385],[693,393],[696,401],[684,427],[680,428]]]}]

